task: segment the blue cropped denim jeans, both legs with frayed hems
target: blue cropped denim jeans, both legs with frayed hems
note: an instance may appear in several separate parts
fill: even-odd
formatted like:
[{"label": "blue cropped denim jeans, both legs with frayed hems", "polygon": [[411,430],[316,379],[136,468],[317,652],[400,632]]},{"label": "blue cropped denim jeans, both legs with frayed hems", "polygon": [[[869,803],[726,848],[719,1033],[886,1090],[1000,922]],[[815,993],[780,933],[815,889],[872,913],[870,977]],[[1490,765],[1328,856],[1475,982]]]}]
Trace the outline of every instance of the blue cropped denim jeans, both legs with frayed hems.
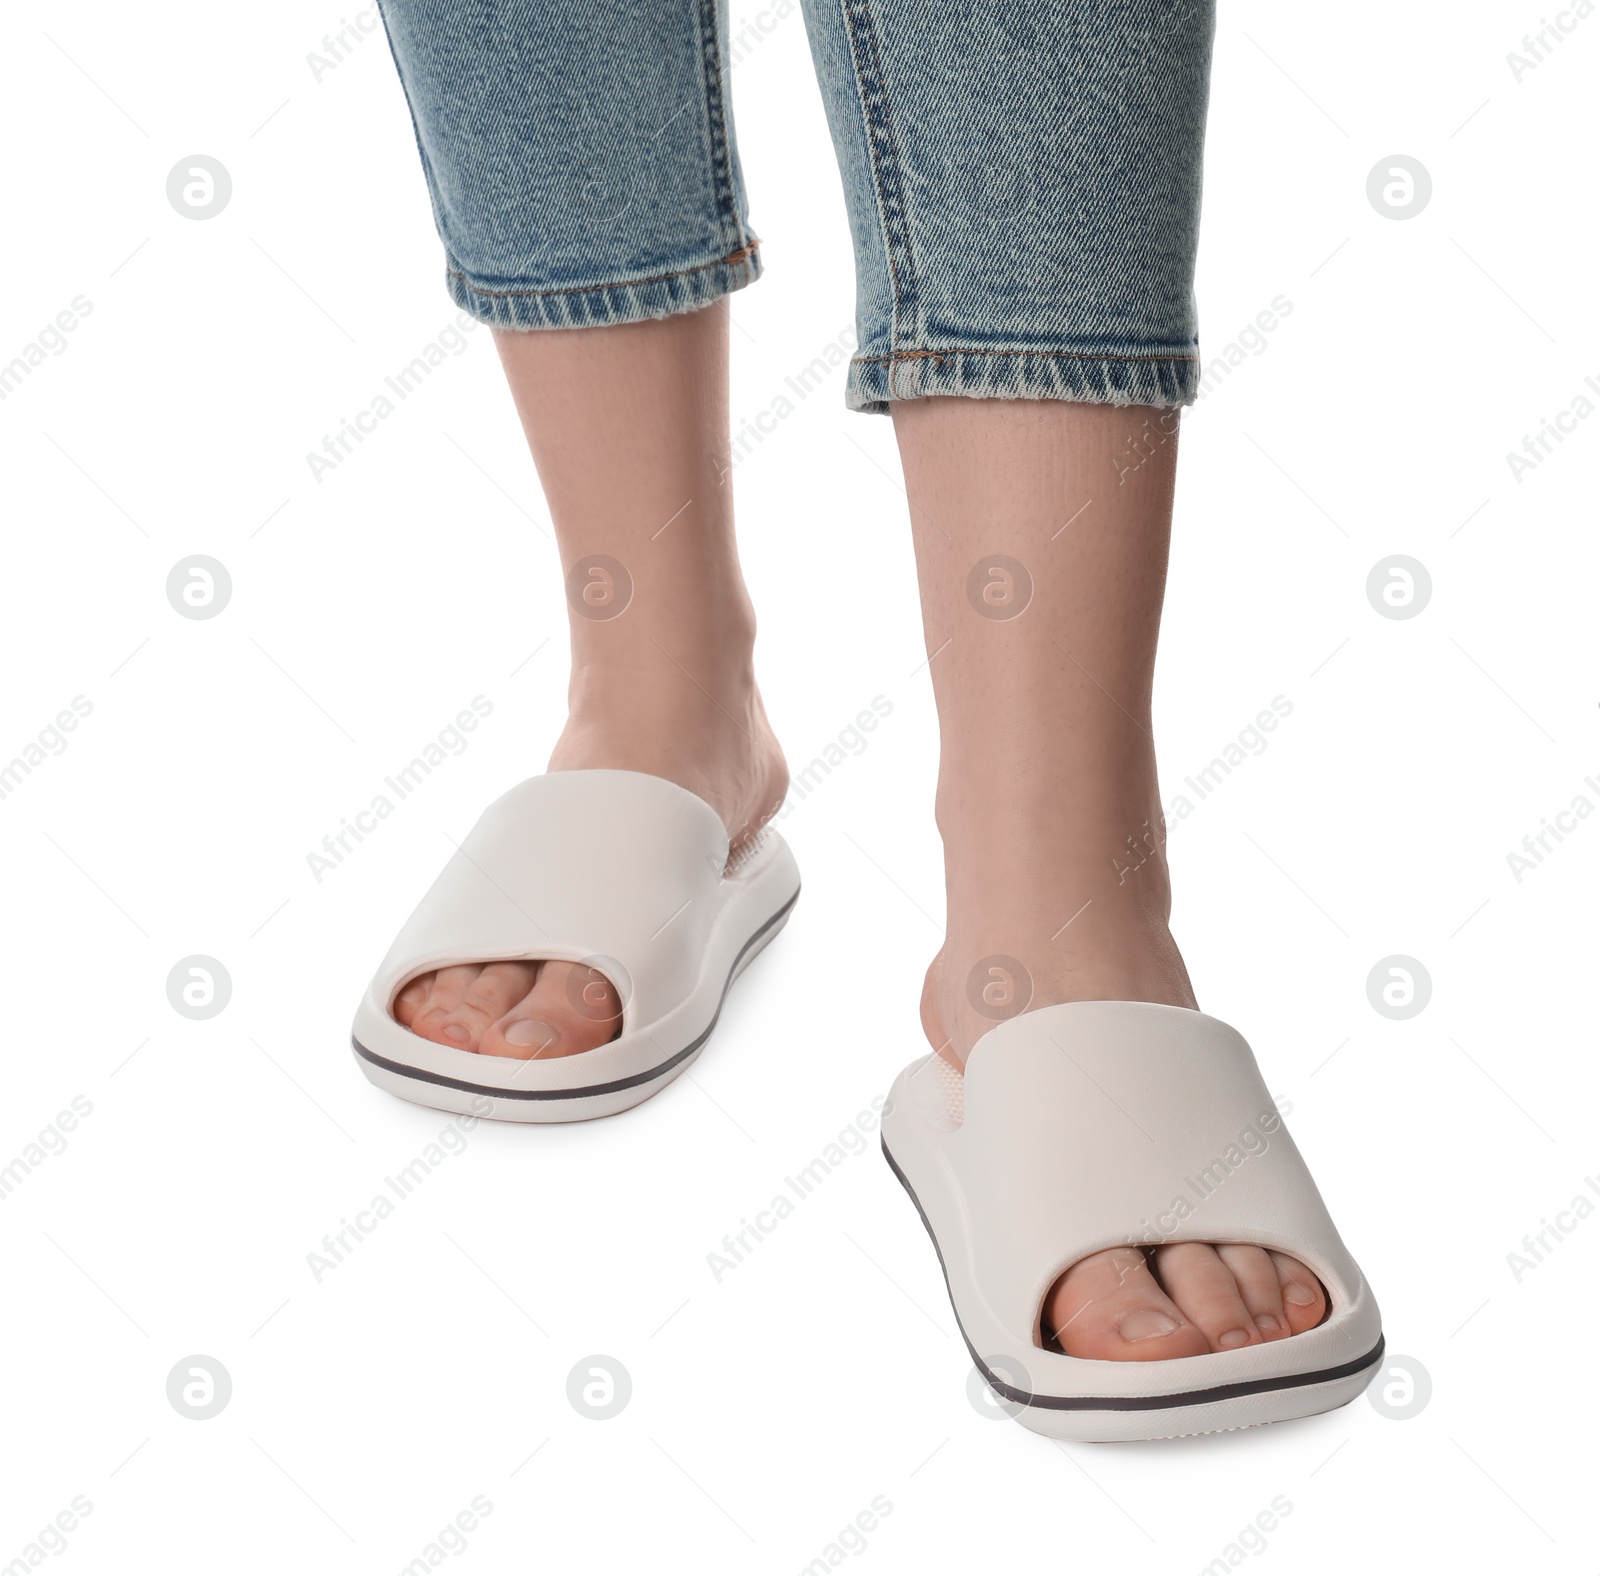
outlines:
[{"label": "blue cropped denim jeans, both legs with frayed hems", "polygon": [[[1214,0],[802,3],[854,237],[846,402],[1194,400]],[[474,317],[630,323],[760,275],[726,0],[382,13]]]}]

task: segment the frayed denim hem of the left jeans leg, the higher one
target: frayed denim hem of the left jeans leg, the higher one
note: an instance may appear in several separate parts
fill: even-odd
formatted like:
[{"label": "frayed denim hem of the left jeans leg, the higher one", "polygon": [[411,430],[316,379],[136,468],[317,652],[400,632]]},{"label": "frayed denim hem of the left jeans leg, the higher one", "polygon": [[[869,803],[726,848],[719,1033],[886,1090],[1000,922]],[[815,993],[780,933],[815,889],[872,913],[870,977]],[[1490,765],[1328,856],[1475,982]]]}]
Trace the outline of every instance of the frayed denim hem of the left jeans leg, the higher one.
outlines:
[{"label": "frayed denim hem of the left jeans leg, the higher one", "polygon": [[474,283],[456,267],[445,282],[456,306],[496,328],[602,328],[642,323],[675,312],[694,312],[718,296],[742,290],[762,277],[760,242],[698,267],[658,274],[616,285],[578,285],[530,290],[517,285]]}]

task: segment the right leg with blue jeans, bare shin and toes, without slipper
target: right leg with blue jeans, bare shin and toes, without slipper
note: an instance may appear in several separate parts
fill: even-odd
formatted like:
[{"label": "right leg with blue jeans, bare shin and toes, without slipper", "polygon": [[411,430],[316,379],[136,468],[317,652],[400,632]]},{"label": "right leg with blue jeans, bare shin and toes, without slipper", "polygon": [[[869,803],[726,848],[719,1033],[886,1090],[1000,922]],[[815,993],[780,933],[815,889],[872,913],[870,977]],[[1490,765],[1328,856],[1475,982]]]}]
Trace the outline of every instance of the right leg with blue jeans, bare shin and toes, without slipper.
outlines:
[{"label": "right leg with blue jeans, bare shin and toes, without slipper", "polygon": [[[994,1027],[984,986],[1195,1005],[1150,677],[1174,406],[1198,384],[1213,16],[976,0],[930,22],[928,0],[806,0],[856,237],[850,403],[894,414],[939,707],[947,922],[923,1026],[962,1066]],[[1136,870],[1130,848],[1149,848]],[[1070,1267],[1042,1328],[1149,1360],[1322,1312],[1293,1259],[1184,1243]]]}]

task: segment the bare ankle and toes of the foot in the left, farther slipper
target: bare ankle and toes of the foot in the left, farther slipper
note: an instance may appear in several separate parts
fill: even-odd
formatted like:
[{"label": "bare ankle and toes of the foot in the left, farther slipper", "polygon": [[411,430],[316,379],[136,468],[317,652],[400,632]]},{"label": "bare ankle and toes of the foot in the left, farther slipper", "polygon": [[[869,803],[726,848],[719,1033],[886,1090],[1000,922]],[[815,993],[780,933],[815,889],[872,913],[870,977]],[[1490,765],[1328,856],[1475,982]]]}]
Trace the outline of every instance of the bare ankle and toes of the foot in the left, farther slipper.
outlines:
[{"label": "bare ankle and toes of the foot in the left, farther slipper", "polygon": [[[670,667],[666,659],[658,666]],[[686,675],[683,675],[686,677]],[[656,674],[640,682],[573,685],[606,696],[568,717],[550,771],[611,768],[645,771],[698,794],[728,829],[730,859],[771,819],[789,792],[789,768],[747,672],[717,686]],[[613,704],[613,696],[630,701]],[[667,720],[670,718],[670,720]],[[394,1014],[424,1040],[458,1051],[573,1056],[616,1038],[621,1002],[605,974],[582,963],[461,963],[419,974],[395,1000]]]}]

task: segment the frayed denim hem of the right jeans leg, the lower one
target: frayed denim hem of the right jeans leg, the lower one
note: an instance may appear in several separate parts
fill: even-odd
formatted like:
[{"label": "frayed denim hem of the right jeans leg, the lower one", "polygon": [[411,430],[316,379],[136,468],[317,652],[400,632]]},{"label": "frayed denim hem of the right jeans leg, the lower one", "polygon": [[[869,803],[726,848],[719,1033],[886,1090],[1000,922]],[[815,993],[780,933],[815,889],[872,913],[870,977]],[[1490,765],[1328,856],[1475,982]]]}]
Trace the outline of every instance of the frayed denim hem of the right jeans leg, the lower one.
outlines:
[{"label": "frayed denim hem of the right jeans leg, the lower one", "polygon": [[850,363],[845,403],[886,416],[893,400],[950,394],[973,400],[1077,400],[1083,405],[1192,405],[1200,357],[1066,350],[899,350]]}]

